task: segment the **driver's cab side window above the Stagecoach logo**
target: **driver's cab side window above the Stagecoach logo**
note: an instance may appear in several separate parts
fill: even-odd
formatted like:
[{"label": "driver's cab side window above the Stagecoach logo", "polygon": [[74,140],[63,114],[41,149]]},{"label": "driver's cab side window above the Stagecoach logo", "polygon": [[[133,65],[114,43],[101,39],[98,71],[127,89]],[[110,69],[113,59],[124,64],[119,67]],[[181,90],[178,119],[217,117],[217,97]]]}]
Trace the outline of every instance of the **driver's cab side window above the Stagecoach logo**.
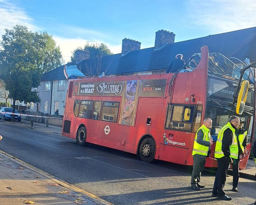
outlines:
[{"label": "driver's cab side window above the Stagecoach logo", "polygon": [[184,131],[191,130],[191,123],[194,116],[194,106],[190,106],[190,119],[184,119],[185,109],[189,108],[189,106],[184,105],[169,105],[167,120],[166,120],[166,129],[178,129]]}]

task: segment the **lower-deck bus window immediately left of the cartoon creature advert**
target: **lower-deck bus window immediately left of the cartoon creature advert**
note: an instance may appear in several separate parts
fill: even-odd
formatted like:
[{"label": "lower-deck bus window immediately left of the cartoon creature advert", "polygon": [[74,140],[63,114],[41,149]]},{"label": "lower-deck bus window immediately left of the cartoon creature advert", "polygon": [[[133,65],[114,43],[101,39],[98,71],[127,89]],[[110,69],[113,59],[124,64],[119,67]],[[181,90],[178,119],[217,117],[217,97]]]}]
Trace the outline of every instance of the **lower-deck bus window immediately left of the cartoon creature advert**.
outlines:
[{"label": "lower-deck bus window immediately left of the cartoon creature advert", "polygon": [[103,102],[101,120],[117,122],[119,102]]}]

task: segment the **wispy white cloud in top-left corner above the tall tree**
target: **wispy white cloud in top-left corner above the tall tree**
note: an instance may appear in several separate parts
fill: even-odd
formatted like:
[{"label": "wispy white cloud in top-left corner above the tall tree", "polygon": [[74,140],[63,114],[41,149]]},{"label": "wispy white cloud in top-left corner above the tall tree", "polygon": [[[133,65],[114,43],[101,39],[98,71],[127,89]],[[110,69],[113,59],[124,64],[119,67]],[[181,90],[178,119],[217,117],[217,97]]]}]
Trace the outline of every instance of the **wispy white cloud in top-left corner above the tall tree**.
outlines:
[{"label": "wispy white cloud in top-left corner above the tall tree", "polygon": [[25,25],[33,31],[40,29],[22,8],[16,7],[5,0],[0,0],[0,16],[0,36],[5,33],[4,29],[11,29],[16,24]]}]

